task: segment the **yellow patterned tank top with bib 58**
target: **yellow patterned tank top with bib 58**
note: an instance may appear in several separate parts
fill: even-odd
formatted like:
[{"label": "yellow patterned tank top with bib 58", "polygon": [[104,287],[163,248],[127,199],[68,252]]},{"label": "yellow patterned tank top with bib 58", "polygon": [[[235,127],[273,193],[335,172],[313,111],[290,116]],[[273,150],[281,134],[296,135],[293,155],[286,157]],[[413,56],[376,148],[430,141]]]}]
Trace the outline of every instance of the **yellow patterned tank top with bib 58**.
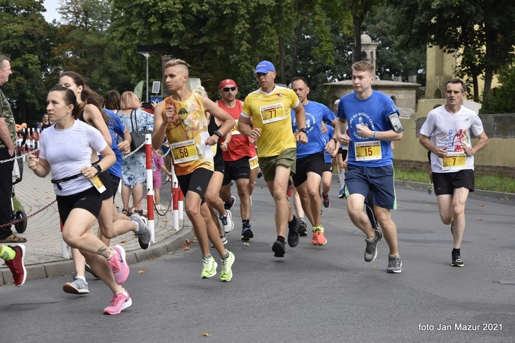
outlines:
[{"label": "yellow patterned tank top with bib 58", "polygon": [[163,119],[168,106],[175,108],[174,116],[166,127],[175,174],[191,174],[197,168],[214,170],[213,150],[204,143],[209,138],[209,133],[201,96],[192,93],[183,102],[167,97],[163,104]]}]

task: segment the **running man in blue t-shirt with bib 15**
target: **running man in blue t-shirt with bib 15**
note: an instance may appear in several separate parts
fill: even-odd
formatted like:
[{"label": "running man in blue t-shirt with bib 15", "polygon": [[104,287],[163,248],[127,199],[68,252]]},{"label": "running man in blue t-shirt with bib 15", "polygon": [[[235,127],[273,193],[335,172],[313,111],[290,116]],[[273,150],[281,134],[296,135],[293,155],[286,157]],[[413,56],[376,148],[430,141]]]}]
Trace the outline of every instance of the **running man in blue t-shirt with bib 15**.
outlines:
[{"label": "running man in blue t-shirt with bib 15", "polygon": [[[389,246],[387,272],[400,273],[402,262],[398,252],[397,227],[390,213],[397,207],[391,141],[400,141],[404,128],[392,99],[372,90],[374,80],[374,64],[360,61],[352,65],[355,92],[341,98],[339,121],[334,132],[339,143],[349,145],[345,198],[350,219],[367,235],[365,261],[376,259],[377,244],[384,234]],[[348,135],[345,134],[345,122],[348,124]],[[363,211],[369,191],[382,233],[372,228]]]}]

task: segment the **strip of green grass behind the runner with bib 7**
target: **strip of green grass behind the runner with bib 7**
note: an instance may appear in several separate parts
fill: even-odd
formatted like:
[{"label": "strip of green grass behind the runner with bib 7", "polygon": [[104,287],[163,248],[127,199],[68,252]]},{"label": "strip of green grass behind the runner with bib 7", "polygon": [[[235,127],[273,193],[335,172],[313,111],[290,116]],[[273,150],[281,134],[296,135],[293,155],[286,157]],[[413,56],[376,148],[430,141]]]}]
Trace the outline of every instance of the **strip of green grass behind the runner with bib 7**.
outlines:
[{"label": "strip of green grass behind the runner with bib 7", "polygon": [[[396,180],[429,182],[429,174],[425,171],[396,169]],[[500,174],[476,174],[476,189],[484,191],[499,191],[503,193],[515,193],[515,179]]]}]

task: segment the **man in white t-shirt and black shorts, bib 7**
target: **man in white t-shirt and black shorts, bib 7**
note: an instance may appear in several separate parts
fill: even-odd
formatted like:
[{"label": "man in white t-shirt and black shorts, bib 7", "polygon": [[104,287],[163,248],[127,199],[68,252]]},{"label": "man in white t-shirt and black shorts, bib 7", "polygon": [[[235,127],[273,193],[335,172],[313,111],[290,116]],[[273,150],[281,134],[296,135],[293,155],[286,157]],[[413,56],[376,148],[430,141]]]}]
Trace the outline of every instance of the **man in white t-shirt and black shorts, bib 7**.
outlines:
[{"label": "man in white t-shirt and black shorts, bib 7", "polygon": [[[465,203],[474,191],[474,154],[488,145],[483,123],[474,111],[461,105],[465,83],[446,82],[447,104],[431,110],[420,129],[420,144],[431,152],[431,170],[440,218],[450,224],[454,248],[453,267],[463,267],[461,240],[465,231]],[[474,147],[471,132],[479,140]],[[430,138],[431,137],[431,138]]]}]

